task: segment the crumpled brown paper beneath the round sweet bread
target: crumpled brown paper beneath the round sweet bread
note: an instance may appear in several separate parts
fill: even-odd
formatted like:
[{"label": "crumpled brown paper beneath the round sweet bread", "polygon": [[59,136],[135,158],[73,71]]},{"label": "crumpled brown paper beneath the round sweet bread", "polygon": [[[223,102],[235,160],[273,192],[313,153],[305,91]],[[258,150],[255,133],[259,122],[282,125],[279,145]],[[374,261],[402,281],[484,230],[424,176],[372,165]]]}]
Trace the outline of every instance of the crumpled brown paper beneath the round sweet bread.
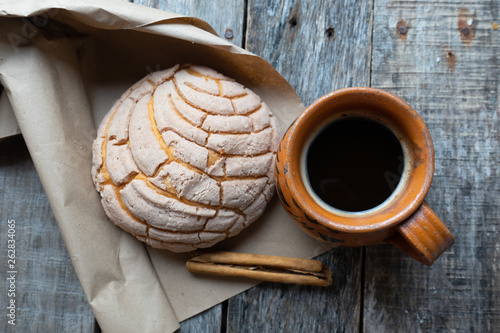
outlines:
[{"label": "crumpled brown paper beneath the round sweet bread", "polygon": [[[304,109],[270,64],[196,18],[114,0],[11,0],[0,8],[0,137],[22,133],[104,332],[173,332],[256,284],[187,272],[188,254],[150,248],[115,227],[92,184],[91,145],[105,113],[133,83],[177,63],[246,85],[282,130]],[[294,226],[274,198],[216,249],[306,258],[328,247]]]}]

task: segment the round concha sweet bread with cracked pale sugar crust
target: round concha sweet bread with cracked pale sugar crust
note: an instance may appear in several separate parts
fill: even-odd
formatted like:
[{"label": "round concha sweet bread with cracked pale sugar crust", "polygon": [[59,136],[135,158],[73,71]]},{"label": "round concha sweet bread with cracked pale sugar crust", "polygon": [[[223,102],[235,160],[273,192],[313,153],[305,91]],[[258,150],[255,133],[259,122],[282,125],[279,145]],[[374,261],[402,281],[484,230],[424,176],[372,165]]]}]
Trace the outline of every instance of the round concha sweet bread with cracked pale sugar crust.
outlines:
[{"label": "round concha sweet bread with cracked pale sugar crust", "polygon": [[92,178],[114,224],[152,247],[188,252],[262,214],[279,138],[251,90],[213,69],[176,65],[134,84],[104,117]]}]

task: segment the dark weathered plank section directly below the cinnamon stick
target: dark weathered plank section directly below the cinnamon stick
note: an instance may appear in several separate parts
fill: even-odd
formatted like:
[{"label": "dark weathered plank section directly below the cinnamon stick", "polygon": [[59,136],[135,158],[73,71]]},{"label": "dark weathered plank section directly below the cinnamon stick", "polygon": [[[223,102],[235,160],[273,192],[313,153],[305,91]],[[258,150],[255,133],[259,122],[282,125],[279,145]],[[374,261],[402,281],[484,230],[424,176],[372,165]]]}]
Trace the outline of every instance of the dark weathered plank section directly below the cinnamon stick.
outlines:
[{"label": "dark weathered plank section directly below the cinnamon stick", "polygon": [[228,332],[357,332],[361,250],[333,249],[319,257],[333,272],[329,287],[261,283],[232,297]]}]

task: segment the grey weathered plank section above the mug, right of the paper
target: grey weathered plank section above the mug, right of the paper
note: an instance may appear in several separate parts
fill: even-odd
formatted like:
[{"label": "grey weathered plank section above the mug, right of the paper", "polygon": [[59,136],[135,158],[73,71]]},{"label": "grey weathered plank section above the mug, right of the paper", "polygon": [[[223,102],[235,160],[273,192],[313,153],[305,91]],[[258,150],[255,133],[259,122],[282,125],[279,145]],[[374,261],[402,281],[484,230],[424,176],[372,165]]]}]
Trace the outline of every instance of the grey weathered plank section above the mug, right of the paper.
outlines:
[{"label": "grey weathered plank section above the mug, right of the paper", "polygon": [[371,0],[250,0],[245,48],[266,59],[304,105],[370,81]]}]

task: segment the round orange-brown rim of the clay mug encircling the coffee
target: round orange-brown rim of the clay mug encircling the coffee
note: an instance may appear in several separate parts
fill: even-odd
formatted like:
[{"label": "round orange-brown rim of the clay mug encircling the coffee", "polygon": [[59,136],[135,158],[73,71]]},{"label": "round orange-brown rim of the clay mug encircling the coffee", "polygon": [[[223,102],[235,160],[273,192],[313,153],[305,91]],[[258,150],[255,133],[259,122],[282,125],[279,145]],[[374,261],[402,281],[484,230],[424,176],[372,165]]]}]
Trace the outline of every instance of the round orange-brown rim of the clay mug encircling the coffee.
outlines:
[{"label": "round orange-brown rim of the clay mug encircling the coffee", "polygon": [[[350,105],[352,109],[371,106],[369,114],[382,112],[385,118],[391,118],[409,140],[407,147],[412,158],[411,171],[407,183],[401,193],[383,207],[366,214],[338,215],[326,210],[307,190],[300,172],[302,154],[305,144],[315,131],[325,122],[322,113],[331,112],[329,108]],[[328,109],[328,110],[327,110]],[[398,112],[395,112],[398,111]],[[348,110],[338,110],[335,113],[348,113]],[[335,114],[334,113],[334,114]],[[313,133],[311,133],[313,132]],[[401,98],[384,90],[368,87],[352,87],[333,91],[320,97],[307,107],[290,126],[288,144],[285,156],[289,164],[290,190],[301,193],[297,204],[307,211],[311,218],[323,226],[335,231],[350,233],[365,233],[395,226],[406,220],[420,207],[431,186],[434,173],[434,148],[429,130],[418,113]],[[297,157],[298,158],[294,158]],[[302,195],[303,194],[303,195]]]}]

